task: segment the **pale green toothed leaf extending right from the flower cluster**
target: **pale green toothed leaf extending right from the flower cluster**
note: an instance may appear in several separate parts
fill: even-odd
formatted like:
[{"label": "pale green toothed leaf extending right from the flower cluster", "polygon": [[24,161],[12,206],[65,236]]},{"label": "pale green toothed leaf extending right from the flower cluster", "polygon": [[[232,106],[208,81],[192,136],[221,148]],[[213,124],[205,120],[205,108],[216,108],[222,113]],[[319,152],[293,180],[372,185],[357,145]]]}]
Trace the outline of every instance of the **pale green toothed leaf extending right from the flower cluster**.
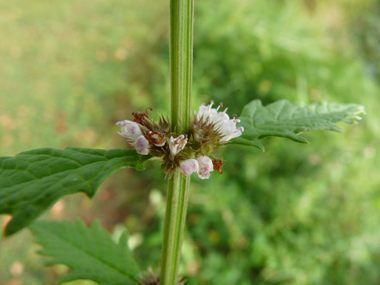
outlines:
[{"label": "pale green toothed leaf extending right from the flower cluster", "polygon": [[342,132],[336,123],[357,123],[364,114],[364,107],[357,104],[319,102],[307,105],[281,100],[264,107],[260,100],[253,100],[239,117],[244,132],[231,144],[255,146],[264,151],[260,139],[268,136],[309,143],[299,134],[315,130]]}]

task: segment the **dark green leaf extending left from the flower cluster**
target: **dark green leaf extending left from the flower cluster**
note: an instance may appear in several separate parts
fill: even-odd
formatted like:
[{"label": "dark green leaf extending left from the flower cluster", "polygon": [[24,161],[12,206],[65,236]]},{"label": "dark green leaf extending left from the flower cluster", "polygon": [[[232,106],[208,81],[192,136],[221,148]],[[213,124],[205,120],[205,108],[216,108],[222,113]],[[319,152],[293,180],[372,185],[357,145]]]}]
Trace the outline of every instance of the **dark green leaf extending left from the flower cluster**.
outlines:
[{"label": "dark green leaf extending left from the flower cluster", "polygon": [[0,157],[0,214],[13,215],[5,235],[21,230],[65,195],[93,197],[112,173],[125,167],[143,170],[149,158],[134,150],[74,147]]}]

